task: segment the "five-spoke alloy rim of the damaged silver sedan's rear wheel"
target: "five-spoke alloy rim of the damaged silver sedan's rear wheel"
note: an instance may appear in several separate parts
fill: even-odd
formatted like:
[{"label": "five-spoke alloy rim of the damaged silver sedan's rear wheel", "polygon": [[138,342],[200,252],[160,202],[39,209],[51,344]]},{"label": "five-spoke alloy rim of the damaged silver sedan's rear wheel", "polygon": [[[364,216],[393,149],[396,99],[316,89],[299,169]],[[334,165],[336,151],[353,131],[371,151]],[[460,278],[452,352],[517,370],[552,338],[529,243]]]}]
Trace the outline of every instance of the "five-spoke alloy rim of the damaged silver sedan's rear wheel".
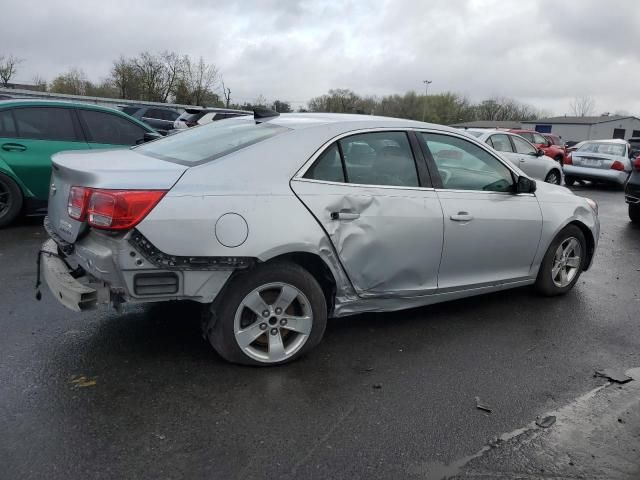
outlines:
[{"label": "five-spoke alloy rim of the damaged silver sedan's rear wheel", "polygon": [[249,292],[236,310],[234,335],[242,351],[259,362],[286,360],[306,343],[313,326],[309,299],[288,283]]}]

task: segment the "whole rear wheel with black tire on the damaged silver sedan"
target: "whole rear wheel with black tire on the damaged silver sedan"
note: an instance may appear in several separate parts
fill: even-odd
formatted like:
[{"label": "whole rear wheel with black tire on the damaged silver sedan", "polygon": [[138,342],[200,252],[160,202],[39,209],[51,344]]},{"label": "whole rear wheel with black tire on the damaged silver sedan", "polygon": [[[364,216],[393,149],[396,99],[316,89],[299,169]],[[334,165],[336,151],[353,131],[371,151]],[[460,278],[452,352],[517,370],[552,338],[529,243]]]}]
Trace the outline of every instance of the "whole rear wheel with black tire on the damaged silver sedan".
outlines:
[{"label": "whole rear wheel with black tire on the damaged silver sedan", "polygon": [[209,342],[232,363],[291,362],[315,347],[327,325],[322,288],[294,263],[259,265],[233,278],[212,306]]}]

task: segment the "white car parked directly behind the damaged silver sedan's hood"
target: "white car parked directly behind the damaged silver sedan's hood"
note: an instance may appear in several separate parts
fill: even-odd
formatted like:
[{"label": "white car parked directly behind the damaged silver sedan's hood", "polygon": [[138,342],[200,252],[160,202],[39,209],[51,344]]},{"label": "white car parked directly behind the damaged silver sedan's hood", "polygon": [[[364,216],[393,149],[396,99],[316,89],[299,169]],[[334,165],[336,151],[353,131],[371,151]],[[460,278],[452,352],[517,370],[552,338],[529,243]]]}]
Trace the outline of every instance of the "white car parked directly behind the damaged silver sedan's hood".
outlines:
[{"label": "white car parked directly behind the damaged silver sedan's hood", "polygon": [[562,168],[524,138],[504,130],[467,129],[465,132],[490,145],[532,178],[547,183],[562,183]]}]

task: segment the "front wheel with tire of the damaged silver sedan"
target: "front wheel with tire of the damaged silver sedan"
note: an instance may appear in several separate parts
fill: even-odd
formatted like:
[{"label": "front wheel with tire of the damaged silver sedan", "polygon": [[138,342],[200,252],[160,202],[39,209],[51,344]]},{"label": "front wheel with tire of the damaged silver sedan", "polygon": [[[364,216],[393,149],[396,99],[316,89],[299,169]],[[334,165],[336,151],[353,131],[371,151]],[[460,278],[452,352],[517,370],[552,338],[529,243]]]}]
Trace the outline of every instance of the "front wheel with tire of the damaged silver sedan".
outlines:
[{"label": "front wheel with tire of the damaged silver sedan", "polygon": [[563,295],[580,278],[587,255],[584,234],[575,225],[563,228],[544,255],[535,287],[547,297]]}]

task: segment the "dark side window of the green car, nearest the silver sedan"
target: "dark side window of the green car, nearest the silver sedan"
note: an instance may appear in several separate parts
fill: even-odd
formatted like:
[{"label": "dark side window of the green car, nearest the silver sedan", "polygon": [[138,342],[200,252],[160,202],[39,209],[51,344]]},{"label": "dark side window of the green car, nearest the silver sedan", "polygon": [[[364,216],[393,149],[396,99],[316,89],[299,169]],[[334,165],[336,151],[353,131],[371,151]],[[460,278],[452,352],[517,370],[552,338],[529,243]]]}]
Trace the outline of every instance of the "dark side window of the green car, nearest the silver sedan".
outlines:
[{"label": "dark side window of the green car, nearest the silver sedan", "polygon": [[135,145],[146,130],[126,118],[96,110],[78,110],[87,128],[89,142],[108,145]]}]

